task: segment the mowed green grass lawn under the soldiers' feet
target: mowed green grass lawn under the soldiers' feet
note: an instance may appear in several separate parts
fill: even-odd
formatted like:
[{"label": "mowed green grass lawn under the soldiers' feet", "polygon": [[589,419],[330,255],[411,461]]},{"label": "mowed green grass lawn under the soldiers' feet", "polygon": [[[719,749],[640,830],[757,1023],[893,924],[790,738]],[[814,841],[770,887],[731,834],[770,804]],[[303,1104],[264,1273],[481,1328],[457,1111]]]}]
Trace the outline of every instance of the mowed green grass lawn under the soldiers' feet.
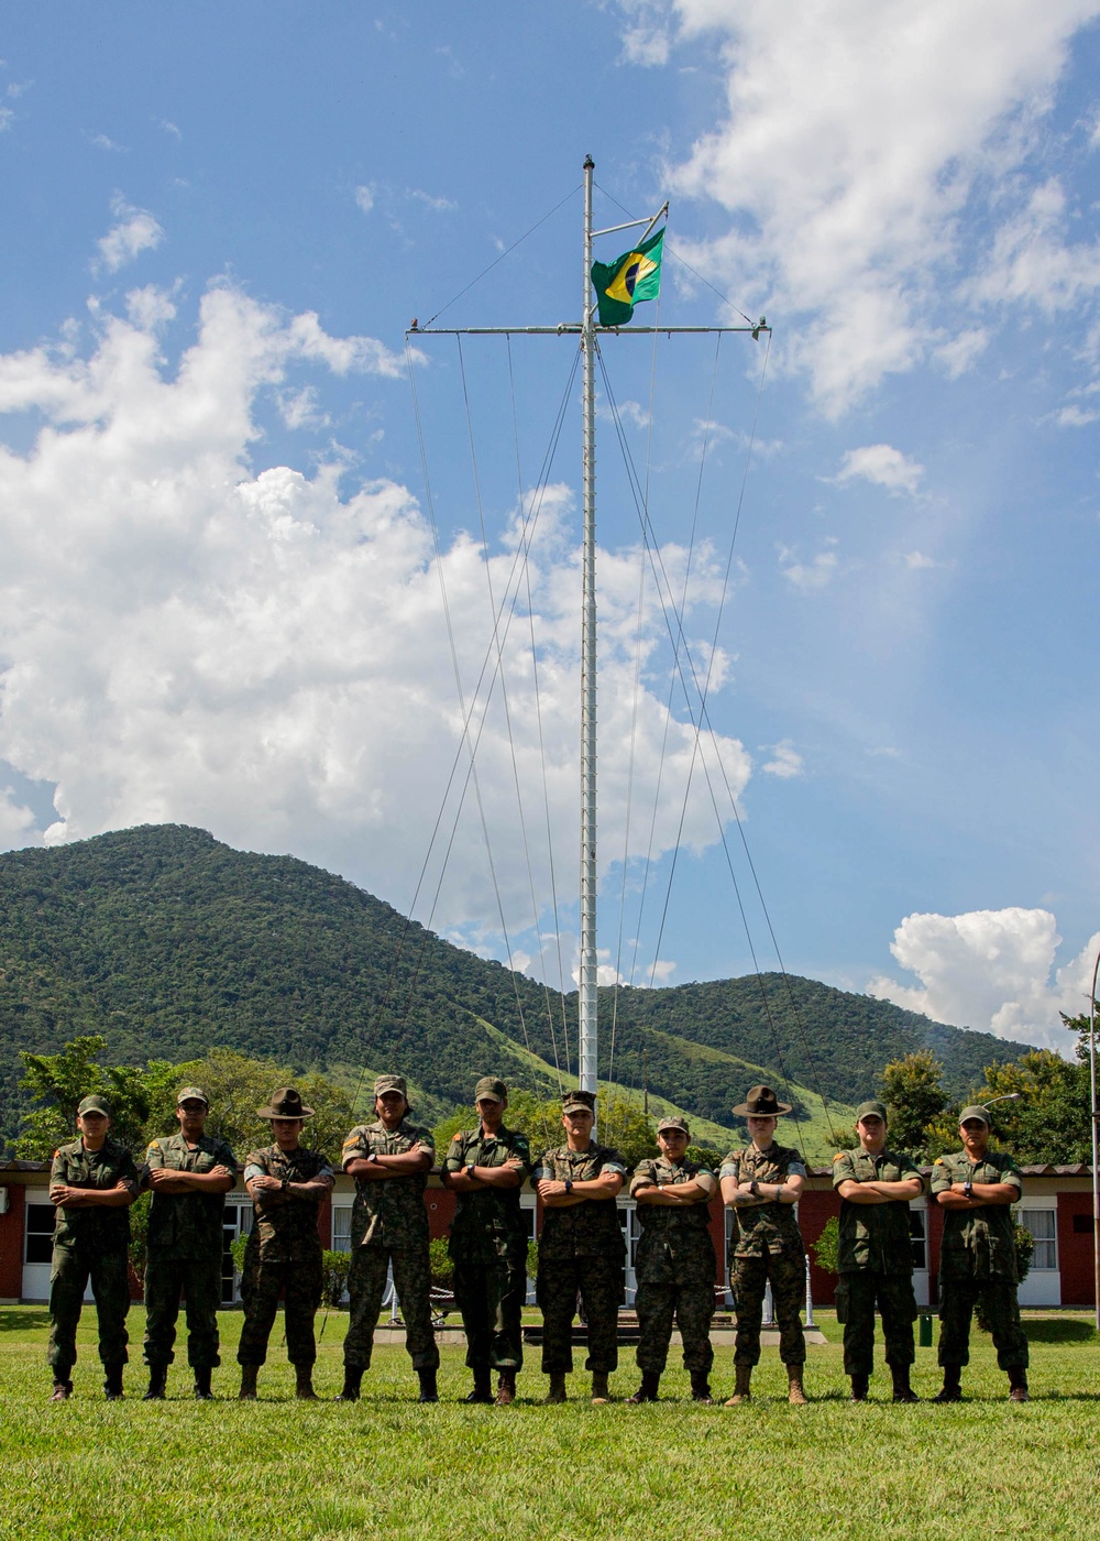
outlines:
[{"label": "mowed green grass lawn under the soldiers' feet", "polygon": [[[336,1404],[347,1318],[328,1318],[316,1385],[330,1401],[296,1402],[279,1347],[260,1375],[260,1401],[236,1401],[240,1314],[222,1316],[217,1402],[194,1402],[177,1358],[166,1402],[142,1402],[143,1313],[131,1311],[126,1401],[106,1402],[85,1308],[71,1401],[51,1404],[42,1308],[0,1310],[0,1535],[28,1538],[364,1536],[690,1538],[1088,1536],[1100,1533],[1100,1348],[1091,1319],[1029,1321],[1032,1401],[1012,1405],[989,1339],[977,1333],[960,1407],[894,1407],[880,1368],[866,1405],[847,1402],[838,1330],[812,1348],[806,1408],[786,1402],[776,1350],[764,1350],[753,1401],[695,1407],[676,1367],[656,1405],[592,1407],[589,1379],[573,1401],[544,1407],[538,1348],[519,1401],[465,1407],[461,1348],[444,1348],[442,1402],[414,1402],[401,1347],[376,1350],[364,1399]],[[134,1351],[134,1344],[137,1348]],[[918,1348],[914,1382],[938,1388],[935,1350]],[[678,1358],[678,1350],[673,1348]],[[732,1350],[719,1348],[713,1387],[732,1392]],[[613,1392],[638,1384],[621,1351]]]}]

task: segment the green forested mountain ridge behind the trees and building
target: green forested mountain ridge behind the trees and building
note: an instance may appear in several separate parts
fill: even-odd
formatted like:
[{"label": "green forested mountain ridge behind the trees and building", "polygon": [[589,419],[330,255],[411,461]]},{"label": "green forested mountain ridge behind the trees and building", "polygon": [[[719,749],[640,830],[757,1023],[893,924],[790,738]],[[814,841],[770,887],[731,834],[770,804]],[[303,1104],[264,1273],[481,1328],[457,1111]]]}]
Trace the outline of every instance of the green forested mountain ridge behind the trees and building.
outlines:
[{"label": "green forested mountain ridge behind the trees and building", "polygon": [[[601,992],[610,1022],[612,991]],[[233,851],[200,829],[156,824],[51,851],[0,855],[0,1133],[18,1117],[20,1048],[102,1032],[119,1063],[183,1060],[217,1045],[300,1069],[401,1066],[421,1108],[467,1102],[515,1049],[576,1071],[575,997],[408,923],[390,905],[293,857]],[[553,1020],[552,1020],[553,1019]],[[746,1077],[767,1073],[852,1105],[881,1066],[932,1048],[963,1093],[1021,1051],[886,1002],[806,979],[713,980],[621,991],[616,1082],[732,1125]],[[568,1049],[568,1053],[567,1053]],[[601,1036],[601,1076],[610,1034]],[[515,1068],[513,1068],[515,1066]],[[764,1068],[761,1071],[761,1066]],[[812,1099],[817,1103],[817,1099]],[[812,1111],[807,1108],[807,1111]]]}]

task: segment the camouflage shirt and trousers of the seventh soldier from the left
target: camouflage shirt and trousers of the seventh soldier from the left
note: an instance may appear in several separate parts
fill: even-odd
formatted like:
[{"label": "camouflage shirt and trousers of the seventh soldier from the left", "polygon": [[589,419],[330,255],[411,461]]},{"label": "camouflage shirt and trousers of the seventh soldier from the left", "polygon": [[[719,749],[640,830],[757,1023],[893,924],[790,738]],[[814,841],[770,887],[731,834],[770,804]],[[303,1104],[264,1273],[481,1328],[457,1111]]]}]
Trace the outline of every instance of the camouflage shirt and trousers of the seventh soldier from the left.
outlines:
[{"label": "camouflage shirt and trousers of the seventh soldier from the left", "polygon": [[[630,1180],[630,1196],[639,1188],[695,1182],[713,1177],[695,1162],[670,1162],[666,1156],[639,1162]],[[715,1361],[710,1318],[715,1314],[715,1244],[710,1241],[710,1207],[706,1202],[666,1207],[639,1204],[641,1237],[635,1253],[638,1293],[635,1310],[641,1339],[638,1368],[661,1375],[669,1358],[672,1321],[684,1341],[684,1367],[709,1375]]]}]

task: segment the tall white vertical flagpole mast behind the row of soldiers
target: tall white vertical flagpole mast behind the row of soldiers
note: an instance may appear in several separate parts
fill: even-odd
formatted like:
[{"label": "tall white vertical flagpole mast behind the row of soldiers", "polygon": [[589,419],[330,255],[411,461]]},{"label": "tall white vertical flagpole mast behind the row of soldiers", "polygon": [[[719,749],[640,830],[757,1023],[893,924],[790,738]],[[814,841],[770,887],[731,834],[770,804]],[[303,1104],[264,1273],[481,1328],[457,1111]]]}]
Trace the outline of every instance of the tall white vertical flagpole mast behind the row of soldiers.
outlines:
[{"label": "tall white vertical flagpole mast behind the row of soldiers", "polygon": [[581,1089],[596,1091],[596,328],[590,300],[592,156],[584,157],[584,287],[581,290]]}]

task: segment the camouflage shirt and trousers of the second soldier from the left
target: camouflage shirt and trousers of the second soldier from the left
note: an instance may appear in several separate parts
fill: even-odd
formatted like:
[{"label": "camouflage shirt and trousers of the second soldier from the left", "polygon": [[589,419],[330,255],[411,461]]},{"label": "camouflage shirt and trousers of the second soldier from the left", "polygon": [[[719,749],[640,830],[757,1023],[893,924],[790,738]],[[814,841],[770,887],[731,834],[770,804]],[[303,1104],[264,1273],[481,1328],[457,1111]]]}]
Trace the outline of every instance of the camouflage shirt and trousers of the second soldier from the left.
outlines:
[{"label": "camouflage shirt and trousers of the second soldier from the left", "polygon": [[[188,1145],[183,1134],[153,1140],[145,1153],[148,1171],[197,1171],[226,1167],[237,1157],[225,1140],[203,1134]],[[149,1207],[145,1270],[145,1362],[154,1368],[176,1358],[176,1318],[180,1294],[186,1296],[188,1364],[214,1370],[217,1353],[217,1307],[222,1304],[222,1253],[225,1250],[223,1193],[156,1193]]]}]

